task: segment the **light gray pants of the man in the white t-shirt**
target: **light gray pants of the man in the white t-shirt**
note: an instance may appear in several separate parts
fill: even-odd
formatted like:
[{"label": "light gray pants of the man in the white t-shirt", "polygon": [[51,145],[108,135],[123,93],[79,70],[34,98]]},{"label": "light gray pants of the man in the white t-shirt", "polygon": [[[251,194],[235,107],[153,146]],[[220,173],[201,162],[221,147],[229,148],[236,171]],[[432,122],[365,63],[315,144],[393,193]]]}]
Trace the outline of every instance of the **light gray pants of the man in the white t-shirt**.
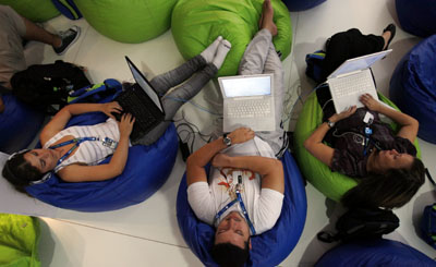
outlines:
[{"label": "light gray pants of the man in the white t-shirt", "polygon": [[272,44],[272,36],[268,29],[259,31],[245,49],[239,65],[241,75],[263,73],[274,74],[274,98],[276,105],[276,130],[271,132],[256,132],[256,135],[267,142],[277,155],[283,146],[284,131],[281,126],[283,110],[283,68]]}]

